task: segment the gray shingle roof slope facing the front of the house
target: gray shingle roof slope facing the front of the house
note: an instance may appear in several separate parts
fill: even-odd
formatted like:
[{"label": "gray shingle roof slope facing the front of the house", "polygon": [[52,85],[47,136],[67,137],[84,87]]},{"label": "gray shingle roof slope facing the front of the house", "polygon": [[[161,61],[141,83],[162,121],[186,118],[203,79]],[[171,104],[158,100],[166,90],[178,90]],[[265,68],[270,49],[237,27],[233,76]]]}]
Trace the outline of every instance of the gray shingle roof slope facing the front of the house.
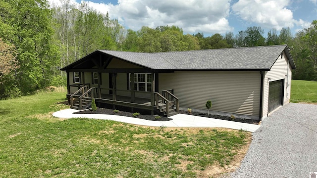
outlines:
[{"label": "gray shingle roof slope facing the front of the house", "polygon": [[286,47],[273,45],[158,53],[99,51],[151,69],[269,70]]}]

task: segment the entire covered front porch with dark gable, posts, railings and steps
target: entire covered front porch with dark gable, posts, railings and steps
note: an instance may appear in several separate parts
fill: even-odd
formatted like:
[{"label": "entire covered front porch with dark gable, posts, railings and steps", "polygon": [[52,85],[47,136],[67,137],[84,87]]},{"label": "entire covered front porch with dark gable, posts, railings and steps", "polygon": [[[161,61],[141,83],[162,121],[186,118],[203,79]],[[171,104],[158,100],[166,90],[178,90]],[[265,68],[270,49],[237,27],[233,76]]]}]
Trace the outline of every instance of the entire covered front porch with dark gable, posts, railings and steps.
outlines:
[{"label": "entire covered front porch with dark gable, posts, railings and steps", "polygon": [[173,90],[159,93],[159,73],[172,70],[156,70],[102,51],[95,51],[62,70],[67,74],[71,108],[88,108],[95,98],[99,107],[123,107],[131,112],[147,110],[165,116],[178,112],[178,98]]}]

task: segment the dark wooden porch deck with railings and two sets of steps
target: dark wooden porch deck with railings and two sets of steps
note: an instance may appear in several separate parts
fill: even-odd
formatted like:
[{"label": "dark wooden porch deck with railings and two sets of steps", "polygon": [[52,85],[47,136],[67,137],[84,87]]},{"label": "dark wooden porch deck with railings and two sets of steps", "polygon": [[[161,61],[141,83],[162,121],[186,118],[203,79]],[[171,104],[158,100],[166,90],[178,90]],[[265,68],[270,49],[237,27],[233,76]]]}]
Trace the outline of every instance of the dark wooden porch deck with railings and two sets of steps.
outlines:
[{"label": "dark wooden porch deck with railings and two sets of steps", "polygon": [[[89,84],[86,85],[90,86]],[[75,87],[79,88],[80,86]],[[78,110],[89,108],[94,98],[98,107],[125,110],[132,113],[146,111],[146,113],[151,115],[172,116],[179,111],[179,101],[178,98],[174,96],[172,89],[164,90],[162,94],[158,92],[133,91],[130,92],[132,97],[114,94],[118,92],[129,93],[130,90],[98,89],[84,86],[74,93],[67,94],[67,98],[71,108]],[[135,97],[135,93],[141,93],[142,96],[149,95],[150,97]]]}]

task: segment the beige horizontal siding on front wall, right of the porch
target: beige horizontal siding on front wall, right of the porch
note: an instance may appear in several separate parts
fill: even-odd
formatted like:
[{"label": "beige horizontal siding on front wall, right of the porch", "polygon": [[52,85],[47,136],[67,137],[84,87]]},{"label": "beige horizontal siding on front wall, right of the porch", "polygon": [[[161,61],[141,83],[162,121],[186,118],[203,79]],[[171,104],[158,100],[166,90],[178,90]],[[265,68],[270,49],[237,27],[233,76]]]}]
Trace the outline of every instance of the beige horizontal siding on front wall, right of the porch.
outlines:
[{"label": "beige horizontal siding on front wall, right of the porch", "polygon": [[260,72],[180,71],[159,74],[159,92],[174,89],[180,107],[259,116]]}]

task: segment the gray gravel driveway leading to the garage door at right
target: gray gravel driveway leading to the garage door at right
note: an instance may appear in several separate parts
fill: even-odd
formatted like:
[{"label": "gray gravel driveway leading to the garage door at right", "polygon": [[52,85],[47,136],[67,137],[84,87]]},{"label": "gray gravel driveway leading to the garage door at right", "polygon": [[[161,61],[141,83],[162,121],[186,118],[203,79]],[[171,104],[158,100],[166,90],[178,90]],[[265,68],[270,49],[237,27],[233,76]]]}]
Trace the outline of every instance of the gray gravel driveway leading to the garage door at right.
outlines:
[{"label": "gray gravel driveway leading to the garage door at right", "polygon": [[289,103],[262,122],[231,178],[309,178],[317,172],[317,105]]}]

